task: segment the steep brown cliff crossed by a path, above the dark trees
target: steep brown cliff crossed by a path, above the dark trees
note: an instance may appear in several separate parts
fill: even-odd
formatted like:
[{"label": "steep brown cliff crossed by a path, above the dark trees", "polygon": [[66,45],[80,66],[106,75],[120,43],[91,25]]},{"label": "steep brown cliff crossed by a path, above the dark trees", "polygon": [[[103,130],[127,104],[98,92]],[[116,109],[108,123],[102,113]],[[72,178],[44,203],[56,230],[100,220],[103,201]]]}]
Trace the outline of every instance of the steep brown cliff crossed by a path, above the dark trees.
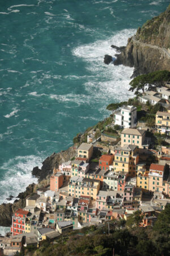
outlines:
[{"label": "steep brown cliff crossed by a path, above the dark trees", "polygon": [[158,70],[170,71],[170,5],[167,10],[148,20],[114,60],[114,65],[134,67],[134,75]]}]

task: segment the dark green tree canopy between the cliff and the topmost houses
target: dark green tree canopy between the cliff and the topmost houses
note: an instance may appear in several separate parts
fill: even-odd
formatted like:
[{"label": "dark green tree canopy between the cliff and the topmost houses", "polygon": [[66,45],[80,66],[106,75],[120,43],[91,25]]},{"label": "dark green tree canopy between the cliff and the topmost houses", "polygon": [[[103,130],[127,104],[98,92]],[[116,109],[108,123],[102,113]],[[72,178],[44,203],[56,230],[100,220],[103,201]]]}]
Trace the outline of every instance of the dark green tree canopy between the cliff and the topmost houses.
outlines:
[{"label": "dark green tree canopy between the cliff and the topmost houses", "polygon": [[130,82],[131,92],[135,92],[136,95],[141,94],[141,90],[144,93],[145,89],[148,86],[148,89],[154,88],[155,86],[163,85],[165,81],[170,80],[170,72],[163,71],[155,71],[152,73],[148,73],[146,75],[140,75],[135,77]]}]

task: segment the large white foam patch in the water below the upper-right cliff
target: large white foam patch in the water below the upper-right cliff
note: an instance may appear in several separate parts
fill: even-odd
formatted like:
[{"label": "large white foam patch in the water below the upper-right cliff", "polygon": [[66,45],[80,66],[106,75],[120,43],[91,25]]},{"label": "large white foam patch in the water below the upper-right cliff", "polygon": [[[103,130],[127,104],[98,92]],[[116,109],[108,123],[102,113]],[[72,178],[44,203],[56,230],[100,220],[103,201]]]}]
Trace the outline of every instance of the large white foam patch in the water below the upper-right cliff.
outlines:
[{"label": "large white foam patch in the water below the upper-right cliff", "polygon": [[[73,55],[87,62],[86,69],[93,76],[89,77],[84,86],[87,94],[91,94],[95,101],[103,100],[105,102],[106,99],[108,102],[123,101],[133,96],[133,93],[129,92],[133,68],[123,65],[105,65],[103,62],[105,54],[114,57],[117,53],[116,49],[111,47],[112,44],[125,46],[128,38],[133,34],[135,34],[135,30],[122,30],[108,40],[98,40],[73,49]],[[101,104],[101,112],[106,113],[104,104]]]}]

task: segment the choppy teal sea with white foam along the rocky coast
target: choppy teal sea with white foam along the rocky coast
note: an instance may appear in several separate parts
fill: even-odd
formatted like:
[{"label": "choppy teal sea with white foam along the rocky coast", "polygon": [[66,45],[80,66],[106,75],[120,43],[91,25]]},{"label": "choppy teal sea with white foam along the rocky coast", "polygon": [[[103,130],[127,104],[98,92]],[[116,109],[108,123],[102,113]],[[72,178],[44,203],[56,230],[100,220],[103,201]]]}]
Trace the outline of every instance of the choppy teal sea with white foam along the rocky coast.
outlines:
[{"label": "choppy teal sea with white foam along the rocky coast", "polygon": [[[37,182],[31,171],[134,97],[133,68],[105,65],[169,0],[1,0],[0,203]],[[11,200],[12,202],[12,200]],[[5,232],[1,229],[0,233]]]}]

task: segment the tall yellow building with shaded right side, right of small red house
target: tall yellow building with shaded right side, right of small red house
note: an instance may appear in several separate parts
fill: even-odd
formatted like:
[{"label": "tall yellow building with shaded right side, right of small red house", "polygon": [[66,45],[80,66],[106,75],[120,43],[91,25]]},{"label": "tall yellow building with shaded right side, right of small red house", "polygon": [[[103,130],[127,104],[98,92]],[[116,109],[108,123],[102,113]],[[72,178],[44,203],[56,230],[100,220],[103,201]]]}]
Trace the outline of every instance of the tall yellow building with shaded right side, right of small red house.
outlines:
[{"label": "tall yellow building with shaded right side, right of small red house", "polygon": [[138,148],[134,145],[117,147],[114,154],[114,172],[125,172],[135,175],[136,164],[139,162]]}]

